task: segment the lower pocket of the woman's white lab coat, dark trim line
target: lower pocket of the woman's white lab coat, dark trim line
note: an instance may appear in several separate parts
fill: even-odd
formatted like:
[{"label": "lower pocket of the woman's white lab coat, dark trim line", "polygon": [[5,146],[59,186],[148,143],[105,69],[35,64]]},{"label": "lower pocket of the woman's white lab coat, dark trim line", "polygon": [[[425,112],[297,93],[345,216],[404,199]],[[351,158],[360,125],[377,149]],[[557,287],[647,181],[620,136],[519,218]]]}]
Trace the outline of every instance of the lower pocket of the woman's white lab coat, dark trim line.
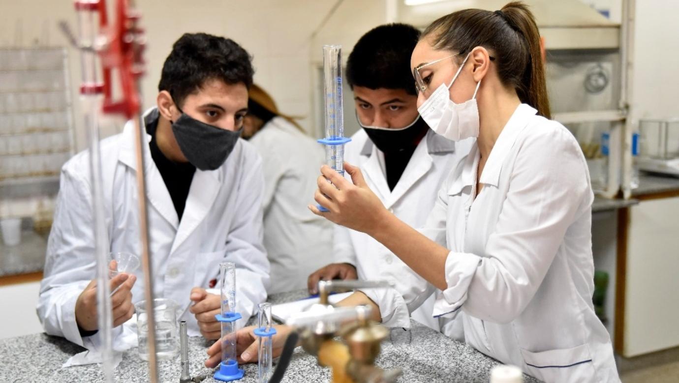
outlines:
[{"label": "lower pocket of the woman's white lab coat, dark trim line", "polygon": [[595,382],[589,344],[540,352],[521,350],[530,375],[545,382]]}]

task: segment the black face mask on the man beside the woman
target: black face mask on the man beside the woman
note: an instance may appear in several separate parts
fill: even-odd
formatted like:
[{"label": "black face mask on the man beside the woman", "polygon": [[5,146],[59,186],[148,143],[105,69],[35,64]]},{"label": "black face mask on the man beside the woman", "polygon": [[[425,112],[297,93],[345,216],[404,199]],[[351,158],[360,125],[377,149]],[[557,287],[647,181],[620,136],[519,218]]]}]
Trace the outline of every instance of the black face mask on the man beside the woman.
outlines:
[{"label": "black face mask on the man beside the woman", "polygon": [[429,129],[429,126],[420,118],[420,115],[418,115],[412,124],[401,129],[365,126],[361,124],[358,115],[356,115],[356,120],[359,120],[359,125],[368,134],[370,141],[373,141],[373,144],[383,153],[398,153],[399,151],[413,149]]}]

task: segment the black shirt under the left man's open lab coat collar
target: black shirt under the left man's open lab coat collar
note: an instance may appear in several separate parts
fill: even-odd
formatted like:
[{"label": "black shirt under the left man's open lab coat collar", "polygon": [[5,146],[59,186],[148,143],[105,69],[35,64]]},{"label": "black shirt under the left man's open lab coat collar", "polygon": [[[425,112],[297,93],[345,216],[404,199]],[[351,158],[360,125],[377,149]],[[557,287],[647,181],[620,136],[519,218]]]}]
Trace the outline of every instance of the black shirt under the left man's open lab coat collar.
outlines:
[{"label": "black shirt under the left man's open lab coat collar", "polygon": [[196,172],[196,166],[191,165],[189,162],[172,162],[160,151],[158,144],[155,142],[155,130],[158,128],[157,112],[151,113],[145,123],[146,131],[151,134],[151,142],[149,142],[151,158],[153,158],[155,166],[160,171],[165,186],[170,192],[172,204],[175,205],[177,217],[181,221],[181,216],[184,214],[186,206],[186,198],[189,196],[191,181],[193,181],[194,173]]}]

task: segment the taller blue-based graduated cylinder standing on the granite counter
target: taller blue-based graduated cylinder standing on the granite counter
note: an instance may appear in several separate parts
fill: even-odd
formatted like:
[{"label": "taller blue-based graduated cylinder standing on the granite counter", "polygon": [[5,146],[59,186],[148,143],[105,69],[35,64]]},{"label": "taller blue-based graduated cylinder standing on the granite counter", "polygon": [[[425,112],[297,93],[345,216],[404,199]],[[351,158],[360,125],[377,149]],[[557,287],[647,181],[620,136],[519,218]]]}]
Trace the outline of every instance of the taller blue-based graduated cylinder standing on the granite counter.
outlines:
[{"label": "taller blue-based graduated cylinder standing on the granite counter", "polygon": [[244,371],[238,369],[236,361],[236,321],[241,318],[236,312],[236,263],[219,263],[221,281],[221,364],[215,372],[215,379],[223,382],[238,380]]}]

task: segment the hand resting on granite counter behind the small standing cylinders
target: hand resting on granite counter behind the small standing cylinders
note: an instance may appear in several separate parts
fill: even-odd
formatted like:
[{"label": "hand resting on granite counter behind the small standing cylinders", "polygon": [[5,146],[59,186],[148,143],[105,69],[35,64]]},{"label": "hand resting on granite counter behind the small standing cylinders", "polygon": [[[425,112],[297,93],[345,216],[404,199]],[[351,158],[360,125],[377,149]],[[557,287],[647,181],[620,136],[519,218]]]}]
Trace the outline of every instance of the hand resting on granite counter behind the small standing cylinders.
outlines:
[{"label": "hand resting on granite counter behind the small standing cylinders", "polygon": [[[255,335],[255,326],[244,327],[236,333],[236,359],[238,364],[254,363],[259,359],[257,354],[257,335]],[[286,325],[275,325],[276,335],[272,336],[272,352],[273,358],[280,357],[280,352],[283,350],[285,340],[288,338],[292,327]],[[221,362],[221,341],[215,342],[208,348],[208,359],[205,361],[205,367],[214,368]]]}]

